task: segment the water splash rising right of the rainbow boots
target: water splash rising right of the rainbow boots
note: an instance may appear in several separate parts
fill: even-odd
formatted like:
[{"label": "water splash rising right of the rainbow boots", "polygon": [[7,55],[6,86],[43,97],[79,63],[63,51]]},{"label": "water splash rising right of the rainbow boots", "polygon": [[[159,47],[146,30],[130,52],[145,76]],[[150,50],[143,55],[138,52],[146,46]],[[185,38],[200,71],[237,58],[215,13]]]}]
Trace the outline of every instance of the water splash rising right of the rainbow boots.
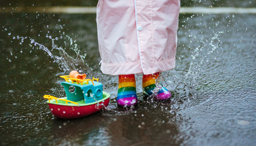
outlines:
[{"label": "water splash rising right of the rainbow boots", "polygon": [[[207,58],[209,58],[210,55],[214,53],[221,45],[221,40],[219,37],[222,33],[225,32],[226,31],[215,32],[212,38],[202,41],[202,46],[191,49],[191,61],[187,72],[173,69],[167,72],[165,76],[161,74],[161,76],[159,76],[156,80],[155,84],[157,87],[154,89],[153,95],[147,97],[147,103],[155,103],[154,97],[157,95],[157,92],[162,87],[166,86],[169,87],[168,89],[170,91],[174,91],[174,94],[181,94],[180,97],[182,97],[183,99],[189,100],[190,98],[195,97],[195,87],[197,84],[199,84],[199,81],[197,79],[200,74],[204,72],[204,69],[209,63]],[[167,76],[172,76],[174,81],[167,81],[167,84],[167,82],[165,81]],[[181,93],[176,93],[177,91],[180,91]]]}]

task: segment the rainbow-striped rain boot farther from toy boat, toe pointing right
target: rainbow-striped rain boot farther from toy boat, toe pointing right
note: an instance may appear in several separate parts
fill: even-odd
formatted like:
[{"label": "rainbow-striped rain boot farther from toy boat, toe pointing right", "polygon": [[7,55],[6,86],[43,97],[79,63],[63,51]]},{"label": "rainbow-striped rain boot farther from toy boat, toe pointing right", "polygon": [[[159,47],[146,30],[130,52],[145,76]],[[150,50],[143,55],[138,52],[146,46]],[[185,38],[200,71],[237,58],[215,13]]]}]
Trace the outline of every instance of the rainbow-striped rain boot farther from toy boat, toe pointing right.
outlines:
[{"label": "rainbow-striped rain boot farther from toy boat, toe pointing right", "polygon": [[[146,96],[153,95],[153,90],[157,87],[155,85],[155,80],[158,78],[158,76],[159,76],[159,73],[147,74],[147,75],[143,74],[142,87],[143,87],[143,93]],[[171,98],[171,93],[165,87],[162,87],[155,95],[155,98],[157,100],[166,100]]]}]

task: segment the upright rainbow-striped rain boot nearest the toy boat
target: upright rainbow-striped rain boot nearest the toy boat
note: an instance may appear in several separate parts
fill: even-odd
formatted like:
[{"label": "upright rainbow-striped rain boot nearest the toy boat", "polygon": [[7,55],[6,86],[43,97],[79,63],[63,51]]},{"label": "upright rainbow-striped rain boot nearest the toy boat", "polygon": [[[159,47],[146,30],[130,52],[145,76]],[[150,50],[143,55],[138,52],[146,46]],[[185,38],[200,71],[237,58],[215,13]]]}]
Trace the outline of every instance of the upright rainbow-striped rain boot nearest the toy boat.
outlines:
[{"label": "upright rainbow-striped rain boot nearest the toy boat", "polygon": [[117,104],[131,106],[137,104],[136,82],[134,74],[119,75]]}]

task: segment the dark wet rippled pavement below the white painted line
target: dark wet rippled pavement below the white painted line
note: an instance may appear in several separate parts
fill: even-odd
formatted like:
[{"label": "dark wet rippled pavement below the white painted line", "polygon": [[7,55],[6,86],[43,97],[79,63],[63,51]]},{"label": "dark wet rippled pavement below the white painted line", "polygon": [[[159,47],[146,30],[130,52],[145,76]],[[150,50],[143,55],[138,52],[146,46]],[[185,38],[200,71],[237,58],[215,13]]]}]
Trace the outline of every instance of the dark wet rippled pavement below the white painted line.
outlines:
[{"label": "dark wet rippled pavement below the white painted line", "polygon": [[[1,145],[249,146],[256,142],[253,14],[181,14],[176,68],[163,73],[172,100],[143,100],[138,74],[139,103],[134,109],[117,107],[117,77],[100,73],[95,14],[0,14],[0,18]],[[42,96],[65,96],[59,78],[63,70],[30,38],[51,51],[49,36],[62,36],[54,44],[76,58],[66,35],[76,40],[80,54],[86,56],[84,63],[111,94],[107,111],[73,120],[54,118],[50,112]],[[27,38],[22,42],[22,37]],[[57,50],[52,53],[60,55]]]}]

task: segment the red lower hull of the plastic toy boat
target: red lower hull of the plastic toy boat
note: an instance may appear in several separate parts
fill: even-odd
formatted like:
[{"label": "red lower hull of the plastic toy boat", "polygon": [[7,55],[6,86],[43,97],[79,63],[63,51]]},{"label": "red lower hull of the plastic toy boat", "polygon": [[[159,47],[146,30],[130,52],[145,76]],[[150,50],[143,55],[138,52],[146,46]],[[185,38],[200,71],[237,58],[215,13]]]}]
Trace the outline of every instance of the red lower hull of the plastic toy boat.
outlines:
[{"label": "red lower hull of the plastic toy boat", "polygon": [[[103,105],[102,105],[103,103]],[[104,100],[104,102],[99,102],[86,106],[65,106],[58,104],[48,103],[52,114],[60,119],[75,119],[81,118],[83,116],[87,116],[98,112],[101,109],[105,109],[109,104],[109,98]]]}]

